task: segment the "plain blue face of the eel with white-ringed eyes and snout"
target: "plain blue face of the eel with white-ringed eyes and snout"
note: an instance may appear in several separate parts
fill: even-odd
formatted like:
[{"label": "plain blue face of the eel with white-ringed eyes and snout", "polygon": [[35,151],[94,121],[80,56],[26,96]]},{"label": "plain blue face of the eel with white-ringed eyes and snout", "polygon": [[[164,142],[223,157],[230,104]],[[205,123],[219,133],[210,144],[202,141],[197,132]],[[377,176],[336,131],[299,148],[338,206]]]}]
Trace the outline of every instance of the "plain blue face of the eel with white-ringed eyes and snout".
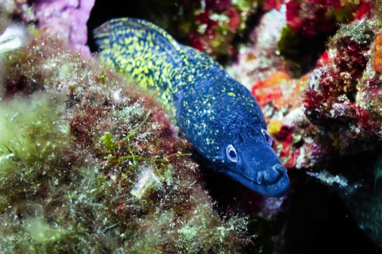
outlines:
[{"label": "plain blue face of the eel with white-ringed eyes and snout", "polygon": [[284,195],[289,179],[272,148],[272,137],[264,128],[252,128],[235,138],[226,138],[221,149],[225,163],[219,171],[247,188],[272,197]]}]

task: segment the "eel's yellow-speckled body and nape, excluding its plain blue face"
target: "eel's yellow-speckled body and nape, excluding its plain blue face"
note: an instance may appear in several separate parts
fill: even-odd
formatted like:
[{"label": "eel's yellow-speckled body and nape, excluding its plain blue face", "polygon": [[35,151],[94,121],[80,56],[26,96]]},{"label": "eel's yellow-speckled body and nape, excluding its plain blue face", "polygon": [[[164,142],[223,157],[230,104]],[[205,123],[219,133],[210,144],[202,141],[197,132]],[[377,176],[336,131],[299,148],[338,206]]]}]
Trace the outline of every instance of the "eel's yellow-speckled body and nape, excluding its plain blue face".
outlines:
[{"label": "eel's yellow-speckled body and nape, excluding its plain blue face", "polygon": [[140,19],[112,19],[95,29],[95,39],[100,59],[154,90],[208,160],[226,160],[221,155],[225,145],[217,140],[240,131],[232,127],[231,133],[224,133],[232,120],[250,119],[265,127],[248,89],[212,58],[179,44],[162,28]]}]

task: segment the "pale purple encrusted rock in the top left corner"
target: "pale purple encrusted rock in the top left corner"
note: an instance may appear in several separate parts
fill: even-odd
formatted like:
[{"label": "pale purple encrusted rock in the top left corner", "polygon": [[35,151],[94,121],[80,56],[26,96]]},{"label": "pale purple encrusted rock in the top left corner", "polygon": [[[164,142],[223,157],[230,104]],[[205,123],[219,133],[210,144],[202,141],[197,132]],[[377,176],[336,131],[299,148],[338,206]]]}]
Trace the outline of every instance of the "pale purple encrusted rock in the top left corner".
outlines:
[{"label": "pale purple encrusted rock in the top left corner", "polygon": [[[4,0],[0,2],[1,26],[21,21],[35,23],[47,34],[58,35],[73,50],[90,58],[86,45],[87,21],[95,0]],[[3,28],[4,29],[4,28]]]}]

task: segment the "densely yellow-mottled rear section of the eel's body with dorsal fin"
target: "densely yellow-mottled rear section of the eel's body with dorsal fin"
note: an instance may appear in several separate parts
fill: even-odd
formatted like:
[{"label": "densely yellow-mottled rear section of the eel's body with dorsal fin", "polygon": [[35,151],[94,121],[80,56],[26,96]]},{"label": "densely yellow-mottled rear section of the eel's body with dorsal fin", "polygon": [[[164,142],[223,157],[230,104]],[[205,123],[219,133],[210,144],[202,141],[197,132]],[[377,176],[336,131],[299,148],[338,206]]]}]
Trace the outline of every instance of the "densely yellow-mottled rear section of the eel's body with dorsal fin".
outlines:
[{"label": "densely yellow-mottled rear section of the eel's body with dorsal fin", "polygon": [[188,58],[173,37],[162,28],[139,19],[112,19],[94,31],[102,50],[100,59],[133,78],[142,88],[171,101],[174,75]]}]

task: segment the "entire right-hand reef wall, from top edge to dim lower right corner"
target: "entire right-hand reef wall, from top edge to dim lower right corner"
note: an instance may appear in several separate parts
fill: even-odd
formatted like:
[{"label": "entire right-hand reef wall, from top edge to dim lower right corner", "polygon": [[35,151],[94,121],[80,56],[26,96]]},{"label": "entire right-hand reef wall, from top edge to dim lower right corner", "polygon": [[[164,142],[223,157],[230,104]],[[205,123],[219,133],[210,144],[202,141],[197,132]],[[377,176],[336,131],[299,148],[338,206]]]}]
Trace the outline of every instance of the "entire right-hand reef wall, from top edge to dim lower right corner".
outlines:
[{"label": "entire right-hand reef wall, from top edge to dim lower right corner", "polygon": [[[317,2],[288,1],[279,11],[267,12],[251,34],[252,44],[241,48],[238,63],[228,70],[261,104],[289,173],[303,171],[307,176],[299,176],[300,181],[317,181],[337,193],[359,227],[381,246],[380,159],[373,157],[382,138],[381,3]],[[294,12],[291,19],[293,6],[306,11]],[[284,18],[284,25],[268,22],[271,13]],[[311,19],[298,16],[306,13]],[[338,21],[343,24],[335,31]],[[328,39],[321,36],[329,32]],[[313,37],[328,43],[315,47]],[[316,54],[314,61],[296,58],[306,57],[305,47]],[[296,71],[301,65],[305,70]],[[377,166],[367,164],[365,154],[374,154],[370,160]],[[290,178],[292,189],[293,182],[299,186],[298,178]]]}]

